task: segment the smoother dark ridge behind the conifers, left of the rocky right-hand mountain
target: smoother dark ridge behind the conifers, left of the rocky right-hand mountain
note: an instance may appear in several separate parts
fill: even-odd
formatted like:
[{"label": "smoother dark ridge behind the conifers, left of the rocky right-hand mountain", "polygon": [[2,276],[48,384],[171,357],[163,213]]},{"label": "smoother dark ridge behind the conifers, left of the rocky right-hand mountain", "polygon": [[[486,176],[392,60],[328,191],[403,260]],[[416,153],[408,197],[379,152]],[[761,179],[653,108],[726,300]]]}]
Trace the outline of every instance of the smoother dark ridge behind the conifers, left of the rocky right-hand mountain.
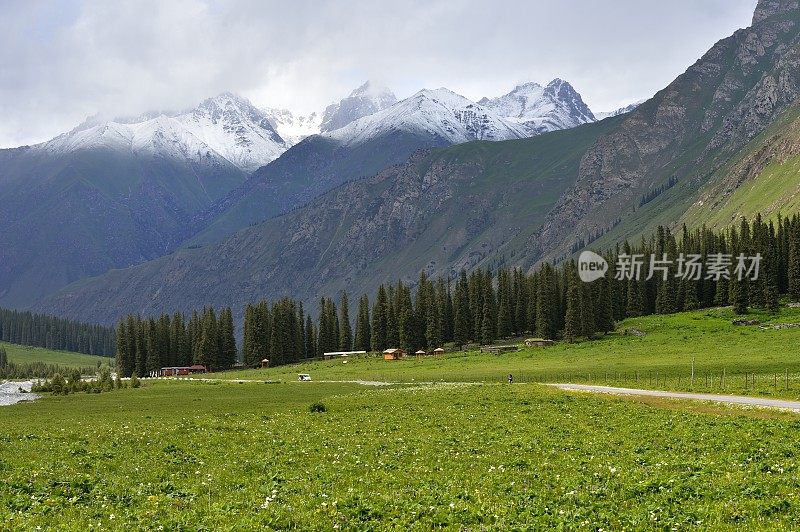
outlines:
[{"label": "smoother dark ridge behind the conifers, left of the rocky right-hand mountain", "polygon": [[314,299],[406,271],[483,264],[498,244],[541,224],[573,183],[580,154],[619,120],[420,153],[221,244],[80,281],[42,308],[109,323],[208,302],[241,309],[282,294]]}]

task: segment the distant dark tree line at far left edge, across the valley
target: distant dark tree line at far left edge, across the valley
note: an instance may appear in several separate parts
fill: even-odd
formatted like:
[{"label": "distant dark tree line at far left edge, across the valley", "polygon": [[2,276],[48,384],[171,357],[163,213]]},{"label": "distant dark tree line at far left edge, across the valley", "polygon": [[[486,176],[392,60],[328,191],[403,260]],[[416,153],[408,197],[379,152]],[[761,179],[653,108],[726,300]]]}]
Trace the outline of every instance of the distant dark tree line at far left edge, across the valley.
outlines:
[{"label": "distant dark tree line at far left edge, across the valley", "polygon": [[110,357],[115,334],[113,327],[0,308],[0,341],[12,344]]}]

